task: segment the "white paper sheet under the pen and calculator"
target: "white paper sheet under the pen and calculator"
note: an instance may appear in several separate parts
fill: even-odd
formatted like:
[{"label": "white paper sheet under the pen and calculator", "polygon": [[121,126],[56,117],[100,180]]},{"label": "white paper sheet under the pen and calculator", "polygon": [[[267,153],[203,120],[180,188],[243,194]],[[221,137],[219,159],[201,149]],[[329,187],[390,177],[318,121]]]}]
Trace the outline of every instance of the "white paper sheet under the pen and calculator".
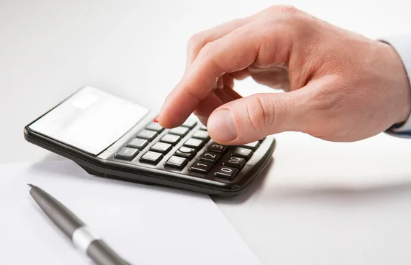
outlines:
[{"label": "white paper sheet under the pen and calculator", "polygon": [[69,207],[132,264],[260,264],[206,195],[93,177],[73,162],[0,165],[0,264],[88,264],[27,183]]}]

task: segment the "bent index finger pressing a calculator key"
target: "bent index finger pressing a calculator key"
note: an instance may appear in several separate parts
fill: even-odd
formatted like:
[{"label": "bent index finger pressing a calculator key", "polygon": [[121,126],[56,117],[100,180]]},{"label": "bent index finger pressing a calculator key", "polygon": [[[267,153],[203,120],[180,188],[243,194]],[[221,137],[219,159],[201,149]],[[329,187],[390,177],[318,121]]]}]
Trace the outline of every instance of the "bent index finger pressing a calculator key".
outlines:
[{"label": "bent index finger pressing a calculator key", "polygon": [[247,68],[256,60],[259,48],[260,40],[250,24],[209,42],[164,102],[160,124],[171,128],[184,123],[219,77]]}]

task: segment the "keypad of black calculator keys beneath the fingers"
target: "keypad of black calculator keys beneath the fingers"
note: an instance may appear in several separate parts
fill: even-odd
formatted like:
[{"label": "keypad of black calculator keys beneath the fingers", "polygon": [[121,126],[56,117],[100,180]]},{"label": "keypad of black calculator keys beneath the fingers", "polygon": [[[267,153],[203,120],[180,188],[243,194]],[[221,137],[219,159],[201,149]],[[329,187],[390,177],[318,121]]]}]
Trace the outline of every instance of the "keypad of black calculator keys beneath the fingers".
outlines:
[{"label": "keypad of black calculator keys beneath the fingers", "polygon": [[[155,140],[157,137],[160,139]],[[207,127],[197,125],[196,121],[188,120],[173,129],[164,129],[158,121],[151,121],[119,149],[114,158],[162,166],[165,170],[183,171],[195,177],[232,181],[261,142],[230,147],[210,141]]]}]

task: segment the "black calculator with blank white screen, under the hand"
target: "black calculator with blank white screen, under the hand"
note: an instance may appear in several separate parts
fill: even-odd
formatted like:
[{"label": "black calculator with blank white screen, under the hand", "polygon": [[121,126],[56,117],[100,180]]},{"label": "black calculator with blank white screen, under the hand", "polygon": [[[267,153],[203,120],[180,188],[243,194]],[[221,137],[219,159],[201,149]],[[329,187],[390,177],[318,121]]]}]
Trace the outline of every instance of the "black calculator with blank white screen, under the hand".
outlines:
[{"label": "black calculator with blank white screen, under the hand", "polygon": [[24,136],[91,175],[221,196],[243,192],[275,149],[273,136],[219,144],[196,118],[165,129],[156,112],[92,86],[29,123]]}]

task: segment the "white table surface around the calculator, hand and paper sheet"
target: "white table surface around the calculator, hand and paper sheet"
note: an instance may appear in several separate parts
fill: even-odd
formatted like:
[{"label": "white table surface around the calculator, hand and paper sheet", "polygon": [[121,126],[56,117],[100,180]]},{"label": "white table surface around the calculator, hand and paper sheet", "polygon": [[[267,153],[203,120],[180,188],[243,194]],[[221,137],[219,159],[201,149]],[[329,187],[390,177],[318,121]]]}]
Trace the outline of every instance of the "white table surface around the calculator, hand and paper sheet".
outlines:
[{"label": "white table surface around the calculator, hand and paper sheet", "polygon": [[[84,84],[159,110],[190,35],[274,3],[0,1],[0,162],[61,159],[25,142],[23,127]],[[408,0],[288,3],[371,38],[411,31]],[[411,263],[411,140],[277,142],[247,194],[214,199],[264,264]]]}]

